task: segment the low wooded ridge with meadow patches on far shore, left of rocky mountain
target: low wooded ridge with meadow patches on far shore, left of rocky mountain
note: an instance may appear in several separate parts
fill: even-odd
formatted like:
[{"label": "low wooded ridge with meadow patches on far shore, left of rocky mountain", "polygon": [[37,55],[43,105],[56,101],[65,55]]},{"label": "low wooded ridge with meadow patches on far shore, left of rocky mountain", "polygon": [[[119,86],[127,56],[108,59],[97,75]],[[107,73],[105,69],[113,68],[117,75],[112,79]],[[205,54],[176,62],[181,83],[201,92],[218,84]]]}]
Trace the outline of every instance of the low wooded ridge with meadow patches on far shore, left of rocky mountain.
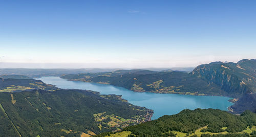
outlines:
[{"label": "low wooded ridge with meadow patches on far shore, left of rocky mountain", "polygon": [[[61,78],[85,82],[97,82],[121,86],[135,92],[189,94],[189,95],[224,95],[216,84],[209,84],[202,78],[185,72],[131,71],[130,73],[112,72],[110,76],[95,74],[64,75]],[[72,76],[72,77],[71,77]],[[86,78],[85,78],[86,77]],[[217,92],[218,91],[218,92]]]}]

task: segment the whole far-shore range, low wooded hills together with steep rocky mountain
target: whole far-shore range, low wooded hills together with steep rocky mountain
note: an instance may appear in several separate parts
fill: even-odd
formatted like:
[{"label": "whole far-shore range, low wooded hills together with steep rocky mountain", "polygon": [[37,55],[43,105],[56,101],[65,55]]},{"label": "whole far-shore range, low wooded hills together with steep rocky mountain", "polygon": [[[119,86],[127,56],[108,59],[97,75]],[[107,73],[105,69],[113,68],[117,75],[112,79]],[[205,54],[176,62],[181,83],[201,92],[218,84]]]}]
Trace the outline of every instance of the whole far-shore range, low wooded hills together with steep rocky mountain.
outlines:
[{"label": "whole far-shore range, low wooded hills together with steep rocky mountain", "polygon": [[[135,92],[188,95],[215,95],[239,98],[256,93],[256,60],[238,63],[212,62],[197,66],[193,72],[115,71],[63,75],[68,80],[97,82],[125,87]],[[143,72],[143,73],[142,73]]]}]

